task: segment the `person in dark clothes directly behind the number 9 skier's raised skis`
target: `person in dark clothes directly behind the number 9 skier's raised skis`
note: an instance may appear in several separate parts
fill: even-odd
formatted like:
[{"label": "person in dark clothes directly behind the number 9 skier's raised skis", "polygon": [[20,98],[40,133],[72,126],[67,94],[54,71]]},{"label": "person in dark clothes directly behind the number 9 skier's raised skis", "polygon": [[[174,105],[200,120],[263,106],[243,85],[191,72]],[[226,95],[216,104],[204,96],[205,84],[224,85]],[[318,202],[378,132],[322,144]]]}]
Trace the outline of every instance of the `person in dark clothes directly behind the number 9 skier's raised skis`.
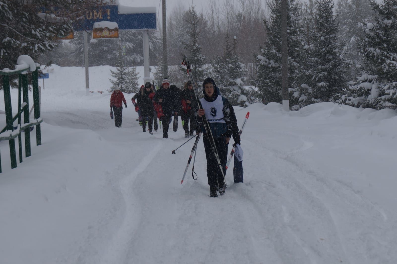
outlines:
[{"label": "person in dark clothes directly behind the number 9 skier's raised skis", "polygon": [[[185,130],[185,138],[193,136],[193,131],[196,129],[196,110],[197,102],[195,92],[193,91],[193,85],[191,81],[185,83],[185,89],[182,91],[182,120],[183,130]],[[190,120],[190,130],[189,130]]]}]

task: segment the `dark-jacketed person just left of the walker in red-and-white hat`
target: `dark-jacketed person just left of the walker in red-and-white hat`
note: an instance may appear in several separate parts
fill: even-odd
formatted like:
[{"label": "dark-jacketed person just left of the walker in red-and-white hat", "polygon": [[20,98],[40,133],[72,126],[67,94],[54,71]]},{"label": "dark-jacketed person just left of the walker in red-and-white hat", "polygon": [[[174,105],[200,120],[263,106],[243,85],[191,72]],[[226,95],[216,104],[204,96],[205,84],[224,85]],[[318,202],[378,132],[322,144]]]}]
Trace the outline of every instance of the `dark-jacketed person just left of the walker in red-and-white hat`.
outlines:
[{"label": "dark-jacketed person just left of the walker in red-and-white hat", "polygon": [[142,130],[146,132],[146,120],[148,121],[149,133],[153,135],[152,127],[153,127],[153,99],[154,93],[152,91],[152,85],[150,82],[145,83],[145,89],[143,89],[140,93],[140,96],[137,97],[137,103],[139,104],[139,108],[141,109],[142,116]]}]

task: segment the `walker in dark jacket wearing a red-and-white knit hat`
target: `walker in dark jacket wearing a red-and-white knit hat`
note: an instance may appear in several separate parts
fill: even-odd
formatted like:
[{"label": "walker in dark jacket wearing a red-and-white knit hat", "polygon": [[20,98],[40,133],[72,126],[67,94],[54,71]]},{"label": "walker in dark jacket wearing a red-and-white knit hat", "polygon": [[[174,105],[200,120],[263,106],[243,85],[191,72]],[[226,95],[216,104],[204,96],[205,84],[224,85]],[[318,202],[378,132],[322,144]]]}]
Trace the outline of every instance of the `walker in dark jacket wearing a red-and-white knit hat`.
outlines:
[{"label": "walker in dark jacket wearing a red-and-white knit hat", "polygon": [[159,103],[162,108],[160,121],[163,123],[163,138],[168,138],[168,128],[170,119],[173,115],[178,115],[177,105],[175,104],[174,94],[170,89],[170,80],[165,78],[160,89],[154,95],[154,101]]}]

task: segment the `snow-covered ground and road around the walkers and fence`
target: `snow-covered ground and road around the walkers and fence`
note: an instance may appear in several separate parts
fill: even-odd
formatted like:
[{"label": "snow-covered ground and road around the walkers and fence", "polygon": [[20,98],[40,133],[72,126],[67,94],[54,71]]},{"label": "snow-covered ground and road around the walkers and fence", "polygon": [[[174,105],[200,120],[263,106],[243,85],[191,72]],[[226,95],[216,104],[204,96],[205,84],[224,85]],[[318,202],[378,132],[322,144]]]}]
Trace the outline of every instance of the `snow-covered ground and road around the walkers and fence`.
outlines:
[{"label": "snow-covered ground and road around the walkers and fence", "polygon": [[[142,133],[125,94],[114,127],[110,94],[96,92],[110,68],[90,68],[87,96],[84,68],[54,66],[42,145],[33,130],[32,156],[11,169],[0,142],[1,264],[397,263],[396,111],[235,107],[239,125],[250,111],[244,183],[229,169],[225,195],[210,198],[202,142],[197,181],[189,169],[180,184],[193,145],[171,154],[185,142],[180,123],[169,139]],[[12,101],[16,113],[15,89]]]}]

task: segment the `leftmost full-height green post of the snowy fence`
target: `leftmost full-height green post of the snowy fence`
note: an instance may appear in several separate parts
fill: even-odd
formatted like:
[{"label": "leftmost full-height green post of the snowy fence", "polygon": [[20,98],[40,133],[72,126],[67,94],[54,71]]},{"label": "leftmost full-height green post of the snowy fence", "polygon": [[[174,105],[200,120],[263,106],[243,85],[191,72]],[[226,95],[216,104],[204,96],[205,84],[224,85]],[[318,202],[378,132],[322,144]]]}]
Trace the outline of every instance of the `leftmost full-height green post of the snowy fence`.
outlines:
[{"label": "leftmost full-height green post of the snowy fence", "polygon": [[[7,130],[14,131],[12,122],[12,107],[11,107],[11,92],[10,92],[10,77],[3,76],[3,91],[4,91],[4,105],[6,107],[6,122]],[[17,154],[15,151],[15,140],[8,140],[10,144],[10,157],[11,157],[11,169],[17,167]]]}]

